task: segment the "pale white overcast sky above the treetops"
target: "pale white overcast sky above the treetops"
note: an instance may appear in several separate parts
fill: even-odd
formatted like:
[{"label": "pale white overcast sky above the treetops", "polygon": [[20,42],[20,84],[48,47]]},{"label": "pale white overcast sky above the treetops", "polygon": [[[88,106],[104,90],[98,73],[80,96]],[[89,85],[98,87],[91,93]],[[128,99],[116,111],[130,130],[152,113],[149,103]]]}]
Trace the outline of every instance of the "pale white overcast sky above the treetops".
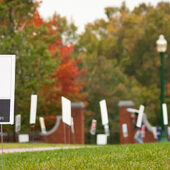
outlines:
[{"label": "pale white overcast sky above the treetops", "polygon": [[[84,31],[84,26],[96,19],[104,18],[104,8],[108,6],[120,7],[124,0],[42,0],[39,8],[40,15],[48,18],[56,12],[66,16],[68,21],[73,21],[78,27],[78,32]],[[126,0],[127,7],[132,10],[135,6],[145,2],[156,5],[158,2],[170,0]]]}]

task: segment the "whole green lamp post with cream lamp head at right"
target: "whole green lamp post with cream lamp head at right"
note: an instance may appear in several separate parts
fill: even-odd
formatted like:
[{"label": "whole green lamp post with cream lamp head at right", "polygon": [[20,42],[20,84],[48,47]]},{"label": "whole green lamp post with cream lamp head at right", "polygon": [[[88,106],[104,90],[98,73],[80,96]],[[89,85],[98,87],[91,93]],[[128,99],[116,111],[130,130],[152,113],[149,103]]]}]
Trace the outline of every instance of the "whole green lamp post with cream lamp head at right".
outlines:
[{"label": "whole green lamp post with cream lamp head at right", "polygon": [[161,96],[160,96],[160,102],[161,102],[161,135],[159,141],[167,141],[166,132],[165,132],[165,125],[163,122],[163,108],[162,104],[164,103],[164,53],[167,49],[167,41],[164,38],[164,35],[160,35],[159,39],[156,41],[157,44],[157,51],[160,53],[160,60],[161,60],[161,66],[160,66],[160,83],[161,83]]}]

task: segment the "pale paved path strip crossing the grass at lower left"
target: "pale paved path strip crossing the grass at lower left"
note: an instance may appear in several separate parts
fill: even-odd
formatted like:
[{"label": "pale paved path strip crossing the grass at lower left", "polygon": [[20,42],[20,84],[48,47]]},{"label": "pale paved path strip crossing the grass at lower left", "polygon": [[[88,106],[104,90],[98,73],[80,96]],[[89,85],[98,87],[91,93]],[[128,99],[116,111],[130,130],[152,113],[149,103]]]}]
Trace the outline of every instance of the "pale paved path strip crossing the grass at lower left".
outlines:
[{"label": "pale paved path strip crossing the grass at lower left", "polygon": [[85,146],[70,146],[70,147],[68,146],[68,147],[18,148],[18,149],[4,149],[3,152],[4,153],[15,153],[15,152],[50,151],[50,150],[79,149],[79,148],[87,148],[87,146],[86,147]]}]

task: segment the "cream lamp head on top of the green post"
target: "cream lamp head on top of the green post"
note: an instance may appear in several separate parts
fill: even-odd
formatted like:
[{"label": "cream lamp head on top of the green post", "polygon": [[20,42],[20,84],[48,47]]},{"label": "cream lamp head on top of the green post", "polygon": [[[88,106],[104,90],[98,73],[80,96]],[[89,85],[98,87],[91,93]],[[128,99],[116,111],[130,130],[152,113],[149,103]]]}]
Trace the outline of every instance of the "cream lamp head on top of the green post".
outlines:
[{"label": "cream lamp head on top of the green post", "polygon": [[167,49],[167,41],[164,38],[164,35],[160,35],[159,39],[156,41],[157,44],[157,51],[158,52],[165,52]]}]

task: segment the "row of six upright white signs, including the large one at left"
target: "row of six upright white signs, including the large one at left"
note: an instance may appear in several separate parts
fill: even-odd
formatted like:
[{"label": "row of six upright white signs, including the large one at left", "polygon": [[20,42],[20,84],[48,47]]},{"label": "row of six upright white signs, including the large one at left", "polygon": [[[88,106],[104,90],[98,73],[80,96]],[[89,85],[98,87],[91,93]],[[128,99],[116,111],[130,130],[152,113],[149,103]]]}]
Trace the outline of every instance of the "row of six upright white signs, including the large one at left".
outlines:
[{"label": "row of six upright white signs, including the large one at left", "polygon": [[[14,91],[15,91],[15,55],[0,55],[0,123],[14,124]],[[72,125],[71,101],[62,97],[62,120],[67,125]],[[167,106],[163,104],[164,124],[168,124]],[[31,96],[30,124],[35,124],[37,109],[37,95]],[[100,101],[102,124],[108,125],[106,101]],[[141,105],[137,126],[141,127],[144,106]]]}]

